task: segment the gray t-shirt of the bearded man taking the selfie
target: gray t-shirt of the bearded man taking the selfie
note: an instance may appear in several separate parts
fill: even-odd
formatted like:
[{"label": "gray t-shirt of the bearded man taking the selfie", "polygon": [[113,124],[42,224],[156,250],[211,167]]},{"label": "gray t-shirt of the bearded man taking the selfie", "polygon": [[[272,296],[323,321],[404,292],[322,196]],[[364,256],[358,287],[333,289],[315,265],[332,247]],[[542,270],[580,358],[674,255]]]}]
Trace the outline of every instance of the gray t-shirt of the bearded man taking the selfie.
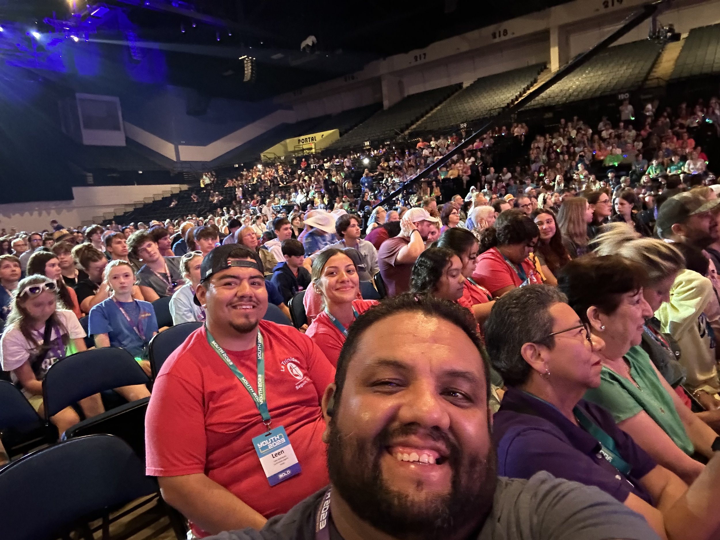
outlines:
[{"label": "gray t-shirt of the bearded man taking the selfie", "polygon": [[[271,518],[261,531],[246,528],[206,540],[315,540],[322,490]],[[638,513],[597,487],[538,472],[529,480],[498,478],[490,515],[477,540],[658,540]],[[330,540],[342,540],[330,526]],[[371,540],[371,539],[368,539]]]}]

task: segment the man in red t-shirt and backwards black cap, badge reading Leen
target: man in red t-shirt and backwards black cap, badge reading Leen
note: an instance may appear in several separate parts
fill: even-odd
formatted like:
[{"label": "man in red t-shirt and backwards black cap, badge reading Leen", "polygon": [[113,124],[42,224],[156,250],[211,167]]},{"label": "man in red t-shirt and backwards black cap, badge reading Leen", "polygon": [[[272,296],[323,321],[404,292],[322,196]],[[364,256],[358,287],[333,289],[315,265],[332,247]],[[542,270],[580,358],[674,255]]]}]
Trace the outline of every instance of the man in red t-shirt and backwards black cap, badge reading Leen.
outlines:
[{"label": "man in red t-shirt and backwards black cap, badge reading Leen", "polygon": [[[208,253],[195,294],[207,319],[158,373],[146,472],[196,536],[259,529],[328,484],[320,399],[335,369],[310,338],[261,320],[265,281],[247,248]],[[253,438],[281,426],[301,470],[271,486]]]}]

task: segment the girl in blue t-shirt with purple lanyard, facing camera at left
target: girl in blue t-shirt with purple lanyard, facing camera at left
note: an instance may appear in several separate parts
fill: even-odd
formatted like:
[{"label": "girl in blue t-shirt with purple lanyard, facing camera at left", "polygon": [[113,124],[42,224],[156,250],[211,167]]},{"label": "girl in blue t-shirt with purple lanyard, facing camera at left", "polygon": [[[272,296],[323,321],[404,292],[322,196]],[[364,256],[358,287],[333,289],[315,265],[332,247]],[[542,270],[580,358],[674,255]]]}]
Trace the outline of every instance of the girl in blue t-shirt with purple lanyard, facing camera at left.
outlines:
[{"label": "girl in blue t-shirt with purple lanyard, facing camera at left", "polygon": [[[124,348],[135,357],[150,377],[148,345],[158,333],[158,320],[153,305],[132,297],[135,274],[127,261],[110,261],[103,276],[110,290],[110,297],[90,310],[88,321],[89,333],[95,340],[95,346]],[[140,400],[150,395],[144,384],[116,388],[115,391],[128,401]]]}]

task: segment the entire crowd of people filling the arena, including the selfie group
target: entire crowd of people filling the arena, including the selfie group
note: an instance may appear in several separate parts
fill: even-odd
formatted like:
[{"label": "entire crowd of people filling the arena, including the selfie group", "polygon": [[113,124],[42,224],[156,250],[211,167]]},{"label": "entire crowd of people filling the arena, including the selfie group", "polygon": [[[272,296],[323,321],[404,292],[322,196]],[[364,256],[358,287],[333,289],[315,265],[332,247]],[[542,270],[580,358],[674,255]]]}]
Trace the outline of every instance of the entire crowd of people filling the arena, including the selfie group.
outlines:
[{"label": "entire crowd of people filling the arena, including the selfie group", "polygon": [[2,369],[42,413],[86,333],[150,375],[153,302],[202,323],[116,389],[150,395],[147,474],[197,538],[716,538],[718,107],[498,127],[392,207],[459,136],[258,164],[232,200],[206,174],[211,215],[4,232]]}]

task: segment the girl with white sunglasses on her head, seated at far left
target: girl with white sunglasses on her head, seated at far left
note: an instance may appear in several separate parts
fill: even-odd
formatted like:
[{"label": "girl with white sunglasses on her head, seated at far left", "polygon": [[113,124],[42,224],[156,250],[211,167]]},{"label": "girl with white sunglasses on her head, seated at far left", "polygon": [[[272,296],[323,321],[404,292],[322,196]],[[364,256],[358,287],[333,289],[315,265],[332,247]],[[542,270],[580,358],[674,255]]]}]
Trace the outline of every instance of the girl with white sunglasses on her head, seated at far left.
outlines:
[{"label": "girl with white sunglasses on her head, seated at far left", "polygon": [[[10,315],[0,338],[0,364],[11,372],[12,382],[42,415],[42,379],[56,361],[85,351],[86,334],[78,318],[60,307],[58,282],[41,275],[27,276],[17,286]],[[104,412],[99,394],[78,402],[86,418]],[[80,421],[67,407],[50,421],[62,434]]]}]

